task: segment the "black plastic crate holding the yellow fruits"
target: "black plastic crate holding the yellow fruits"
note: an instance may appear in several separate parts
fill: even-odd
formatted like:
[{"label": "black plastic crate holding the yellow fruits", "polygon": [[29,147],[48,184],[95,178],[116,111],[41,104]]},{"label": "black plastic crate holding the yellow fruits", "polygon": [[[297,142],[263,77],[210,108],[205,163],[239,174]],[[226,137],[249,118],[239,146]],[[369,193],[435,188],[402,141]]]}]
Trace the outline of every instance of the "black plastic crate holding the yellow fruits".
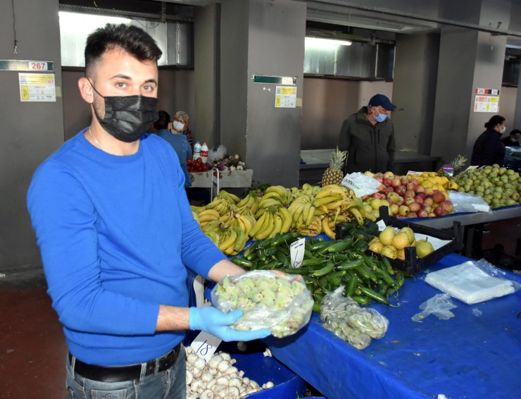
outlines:
[{"label": "black plastic crate holding the yellow fruits", "polygon": [[[387,207],[380,207],[379,212],[380,217],[378,220],[383,220],[386,226],[393,226],[396,228],[410,227],[415,233],[429,235],[434,238],[439,238],[440,240],[450,240],[449,243],[423,258],[416,256],[416,247],[406,247],[406,259],[387,258],[396,269],[407,271],[410,274],[417,274],[426,269],[430,264],[438,262],[442,257],[463,248],[463,229],[459,221],[454,221],[452,228],[438,229],[398,219],[394,216],[389,216]],[[344,231],[342,231],[341,228],[337,228],[336,231],[337,239],[340,240],[341,238],[344,238]],[[379,258],[382,257],[382,255],[369,250],[366,253],[373,254]]]}]

